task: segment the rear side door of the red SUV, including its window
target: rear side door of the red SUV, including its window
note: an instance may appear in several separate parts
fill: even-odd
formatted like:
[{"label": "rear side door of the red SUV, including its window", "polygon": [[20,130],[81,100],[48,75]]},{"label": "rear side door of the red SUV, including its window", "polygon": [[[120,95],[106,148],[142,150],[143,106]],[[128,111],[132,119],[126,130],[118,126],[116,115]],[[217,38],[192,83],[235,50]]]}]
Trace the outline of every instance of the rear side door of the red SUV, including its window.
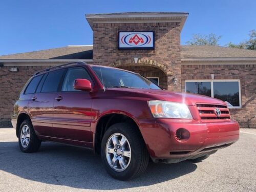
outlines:
[{"label": "rear side door of the red SUV, including its window", "polygon": [[53,103],[64,72],[62,69],[44,74],[28,103],[37,135],[52,137]]}]

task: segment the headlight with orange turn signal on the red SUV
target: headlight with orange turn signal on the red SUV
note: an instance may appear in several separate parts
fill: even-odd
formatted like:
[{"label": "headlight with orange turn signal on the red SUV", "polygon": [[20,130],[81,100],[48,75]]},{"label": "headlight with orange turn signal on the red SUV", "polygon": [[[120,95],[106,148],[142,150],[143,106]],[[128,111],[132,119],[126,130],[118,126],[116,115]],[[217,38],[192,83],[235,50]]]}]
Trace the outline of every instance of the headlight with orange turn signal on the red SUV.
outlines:
[{"label": "headlight with orange turn signal on the red SUV", "polygon": [[156,118],[192,119],[192,115],[184,103],[151,100],[148,101],[151,113]]}]

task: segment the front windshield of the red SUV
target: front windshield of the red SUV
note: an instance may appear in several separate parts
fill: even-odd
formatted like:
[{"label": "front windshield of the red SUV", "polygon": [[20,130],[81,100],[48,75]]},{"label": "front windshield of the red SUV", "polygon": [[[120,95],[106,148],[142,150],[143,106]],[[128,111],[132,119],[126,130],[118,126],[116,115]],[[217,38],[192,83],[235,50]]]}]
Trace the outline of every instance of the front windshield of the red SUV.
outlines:
[{"label": "front windshield of the red SUV", "polygon": [[93,66],[93,71],[97,74],[105,88],[139,88],[161,90],[156,84],[147,78],[128,71],[115,68],[105,68]]}]

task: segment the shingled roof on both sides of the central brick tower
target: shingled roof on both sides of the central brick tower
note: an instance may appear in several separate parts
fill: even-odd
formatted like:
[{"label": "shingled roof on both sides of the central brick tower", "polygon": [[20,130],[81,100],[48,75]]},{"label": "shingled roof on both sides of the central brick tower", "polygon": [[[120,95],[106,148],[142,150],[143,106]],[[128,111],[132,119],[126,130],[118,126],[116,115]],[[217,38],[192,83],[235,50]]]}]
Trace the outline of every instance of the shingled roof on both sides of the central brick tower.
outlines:
[{"label": "shingled roof on both sides of the central brick tower", "polygon": [[[220,46],[181,46],[181,58],[256,58],[256,51]],[[55,49],[0,56],[0,59],[92,59],[93,46]]]}]

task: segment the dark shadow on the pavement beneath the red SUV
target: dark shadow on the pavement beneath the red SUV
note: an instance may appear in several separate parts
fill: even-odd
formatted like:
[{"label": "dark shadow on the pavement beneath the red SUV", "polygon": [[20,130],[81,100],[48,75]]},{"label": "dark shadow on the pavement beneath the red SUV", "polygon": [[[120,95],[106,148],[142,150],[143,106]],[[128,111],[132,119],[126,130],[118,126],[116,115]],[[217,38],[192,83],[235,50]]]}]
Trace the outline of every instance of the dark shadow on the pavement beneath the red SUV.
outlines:
[{"label": "dark shadow on the pavement beneath the red SUV", "polygon": [[131,181],[118,181],[106,172],[98,155],[84,148],[43,142],[37,153],[25,154],[17,142],[0,142],[0,169],[18,177],[84,189],[125,189],[148,186],[194,172],[197,165],[150,163],[146,172]]}]

